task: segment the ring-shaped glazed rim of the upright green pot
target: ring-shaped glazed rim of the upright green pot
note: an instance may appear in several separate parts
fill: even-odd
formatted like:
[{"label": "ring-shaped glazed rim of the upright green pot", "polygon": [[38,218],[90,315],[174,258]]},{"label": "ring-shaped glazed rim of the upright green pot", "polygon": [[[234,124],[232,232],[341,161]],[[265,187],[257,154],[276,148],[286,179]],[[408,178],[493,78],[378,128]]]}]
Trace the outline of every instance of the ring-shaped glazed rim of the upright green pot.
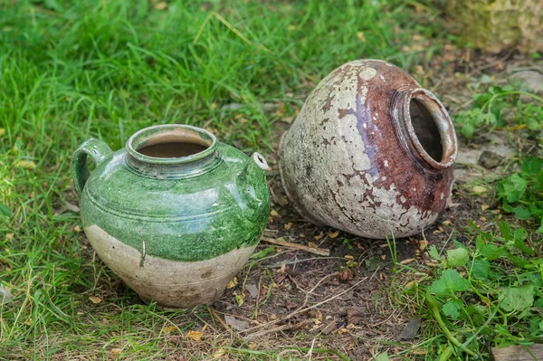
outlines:
[{"label": "ring-shaped glazed rim of the upright green pot", "polygon": [[[201,152],[186,157],[149,157],[138,152],[141,147],[171,142],[199,144],[206,148]],[[214,155],[218,147],[218,141],[213,133],[204,128],[185,124],[162,124],[138,130],[127,140],[125,147],[130,157],[140,162],[173,166],[193,163]]]}]

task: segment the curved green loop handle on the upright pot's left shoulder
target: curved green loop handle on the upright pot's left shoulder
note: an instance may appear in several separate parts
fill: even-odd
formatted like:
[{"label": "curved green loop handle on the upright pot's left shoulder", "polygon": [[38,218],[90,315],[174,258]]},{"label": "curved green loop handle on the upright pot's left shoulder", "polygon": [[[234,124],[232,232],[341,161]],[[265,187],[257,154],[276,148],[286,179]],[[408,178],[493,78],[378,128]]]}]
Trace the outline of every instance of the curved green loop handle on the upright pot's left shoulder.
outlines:
[{"label": "curved green loop handle on the upright pot's left shoulder", "polygon": [[71,157],[71,177],[77,193],[81,195],[83,187],[90,176],[87,156],[92,157],[98,166],[111,152],[111,148],[106,143],[96,138],[90,138],[75,149],[73,157]]}]

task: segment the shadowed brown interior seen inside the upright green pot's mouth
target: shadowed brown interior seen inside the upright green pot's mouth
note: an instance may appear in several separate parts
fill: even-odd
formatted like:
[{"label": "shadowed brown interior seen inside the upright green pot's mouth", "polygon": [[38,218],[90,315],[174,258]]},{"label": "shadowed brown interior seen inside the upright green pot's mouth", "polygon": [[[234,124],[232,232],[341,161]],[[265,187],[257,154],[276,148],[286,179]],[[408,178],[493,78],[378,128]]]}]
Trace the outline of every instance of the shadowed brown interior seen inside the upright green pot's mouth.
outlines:
[{"label": "shadowed brown interior seen inside the upright green pot's mouth", "polygon": [[149,135],[136,150],[148,157],[179,158],[200,153],[211,144],[211,139],[202,138],[202,135],[195,131],[176,128],[165,133]]}]

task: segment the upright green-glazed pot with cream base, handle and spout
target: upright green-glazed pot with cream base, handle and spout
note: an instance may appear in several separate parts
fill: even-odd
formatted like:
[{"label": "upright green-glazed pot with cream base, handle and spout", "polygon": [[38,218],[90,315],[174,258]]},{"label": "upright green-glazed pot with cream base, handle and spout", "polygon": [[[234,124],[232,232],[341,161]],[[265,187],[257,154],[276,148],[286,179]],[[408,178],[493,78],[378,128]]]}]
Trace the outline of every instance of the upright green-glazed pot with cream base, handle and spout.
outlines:
[{"label": "upright green-glazed pot with cream base, handle and spout", "polygon": [[[204,150],[185,157],[141,150],[166,143]],[[181,309],[221,297],[260,241],[270,211],[267,168],[260,154],[247,157],[205,129],[162,125],[138,131],[116,152],[87,140],[71,174],[100,259],[145,301]]]}]

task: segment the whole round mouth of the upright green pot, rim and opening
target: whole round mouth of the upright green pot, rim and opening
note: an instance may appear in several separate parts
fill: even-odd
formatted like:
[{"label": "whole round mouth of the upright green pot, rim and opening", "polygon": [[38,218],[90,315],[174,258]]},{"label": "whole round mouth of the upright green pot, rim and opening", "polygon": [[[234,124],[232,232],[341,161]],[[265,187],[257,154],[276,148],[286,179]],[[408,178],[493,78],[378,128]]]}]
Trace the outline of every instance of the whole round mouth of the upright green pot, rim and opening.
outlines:
[{"label": "whole round mouth of the upright green pot, rim and opening", "polygon": [[126,147],[129,155],[141,162],[178,165],[214,154],[217,140],[202,128],[167,124],[139,130]]}]

